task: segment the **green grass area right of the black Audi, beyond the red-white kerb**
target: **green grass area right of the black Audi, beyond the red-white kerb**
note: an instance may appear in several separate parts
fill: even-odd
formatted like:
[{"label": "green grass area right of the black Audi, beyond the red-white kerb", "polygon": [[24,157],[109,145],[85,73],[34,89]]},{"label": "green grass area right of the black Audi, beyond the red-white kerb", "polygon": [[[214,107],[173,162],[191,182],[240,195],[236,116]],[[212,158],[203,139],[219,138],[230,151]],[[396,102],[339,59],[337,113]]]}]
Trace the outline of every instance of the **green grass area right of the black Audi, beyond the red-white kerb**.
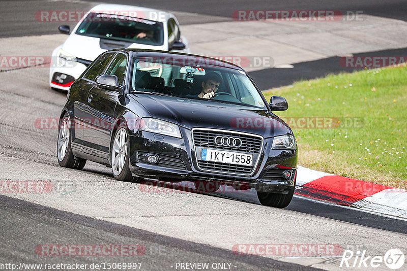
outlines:
[{"label": "green grass area right of the black Audi, beyond the red-white kerb", "polygon": [[[287,99],[288,110],[274,113],[293,124],[300,165],[406,188],[405,67],[330,75],[263,94],[268,100],[271,95]],[[291,119],[297,117],[329,118],[332,125],[299,128]]]}]

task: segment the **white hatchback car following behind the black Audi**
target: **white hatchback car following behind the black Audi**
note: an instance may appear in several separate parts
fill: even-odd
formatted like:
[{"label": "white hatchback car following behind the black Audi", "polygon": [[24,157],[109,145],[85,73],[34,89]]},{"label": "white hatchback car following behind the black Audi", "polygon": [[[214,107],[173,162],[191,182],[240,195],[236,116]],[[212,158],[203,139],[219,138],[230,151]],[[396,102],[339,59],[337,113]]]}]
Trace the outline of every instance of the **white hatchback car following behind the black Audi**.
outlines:
[{"label": "white hatchback car following behind the black Audi", "polygon": [[49,85],[69,90],[86,67],[104,51],[139,48],[190,53],[177,18],[148,8],[101,4],[92,8],[74,27],[61,25],[69,37],[52,52]]}]

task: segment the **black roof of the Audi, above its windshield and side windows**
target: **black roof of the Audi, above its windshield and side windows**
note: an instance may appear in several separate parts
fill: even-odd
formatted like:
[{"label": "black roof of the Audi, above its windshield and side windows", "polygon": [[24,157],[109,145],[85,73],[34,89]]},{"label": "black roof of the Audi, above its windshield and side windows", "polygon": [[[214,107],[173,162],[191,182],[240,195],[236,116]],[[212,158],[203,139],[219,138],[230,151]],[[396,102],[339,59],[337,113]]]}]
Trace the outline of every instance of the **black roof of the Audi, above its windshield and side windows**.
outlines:
[{"label": "black roof of the Audi, above its windshield and side windows", "polygon": [[[235,70],[240,70],[243,71],[242,67],[231,63],[227,62],[221,59],[216,59],[213,57],[208,57],[208,56],[202,56],[202,55],[194,55],[194,54],[187,54],[187,53],[181,53],[181,52],[170,52],[170,51],[161,51],[161,50],[151,50],[151,49],[128,49],[128,48],[119,48],[119,49],[112,49],[109,51],[121,51],[121,52],[127,52],[130,56],[137,56],[137,57],[174,57],[174,56],[181,56],[185,59],[190,60],[188,57],[194,57],[194,61],[196,61],[198,64],[199,63],[205,63],[213,66],[220,66],[220,67],[226,67],[229,69],[235,69]],[[187,62],[188,63],[188,62]]]}]

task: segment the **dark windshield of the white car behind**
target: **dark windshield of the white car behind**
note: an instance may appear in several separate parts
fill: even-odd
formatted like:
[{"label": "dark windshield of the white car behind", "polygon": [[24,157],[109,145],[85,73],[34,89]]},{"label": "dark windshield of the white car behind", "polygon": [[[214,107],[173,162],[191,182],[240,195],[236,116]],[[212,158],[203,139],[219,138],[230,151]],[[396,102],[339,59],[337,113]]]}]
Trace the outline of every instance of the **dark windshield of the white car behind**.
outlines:
[{"label": "dark windshield of the white car behind", "polygon": [[129,16],[89,13],[75,32],[95,38],[163,45],[163,23]]}]

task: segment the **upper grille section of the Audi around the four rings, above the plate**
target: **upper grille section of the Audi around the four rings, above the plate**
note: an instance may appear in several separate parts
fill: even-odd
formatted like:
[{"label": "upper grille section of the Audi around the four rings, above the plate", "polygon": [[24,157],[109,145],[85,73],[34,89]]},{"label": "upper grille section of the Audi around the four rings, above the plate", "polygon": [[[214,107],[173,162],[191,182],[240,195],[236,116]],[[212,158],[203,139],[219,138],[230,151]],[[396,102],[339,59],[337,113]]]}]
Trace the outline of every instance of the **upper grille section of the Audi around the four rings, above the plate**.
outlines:
[{"label": "upper grille section of the Audi around the four rings, above the plate", "polygon": [[[249,153],[259,153],[261,148],[261,143],[263,140],[260,137],[250,136],[248,134],[225,132],[225,131],[213,131],[213,130],[194,130],[192,134],[194,138],[195,146],[205,147],[205,148],[216,148],[221,150],[230,150],[238,152],[249,152]],[[215,137],[226,136],[234,137],[242,140],[242,146],[240,148],[236,147],[225,147],[218,146],[215,144]]]}]

